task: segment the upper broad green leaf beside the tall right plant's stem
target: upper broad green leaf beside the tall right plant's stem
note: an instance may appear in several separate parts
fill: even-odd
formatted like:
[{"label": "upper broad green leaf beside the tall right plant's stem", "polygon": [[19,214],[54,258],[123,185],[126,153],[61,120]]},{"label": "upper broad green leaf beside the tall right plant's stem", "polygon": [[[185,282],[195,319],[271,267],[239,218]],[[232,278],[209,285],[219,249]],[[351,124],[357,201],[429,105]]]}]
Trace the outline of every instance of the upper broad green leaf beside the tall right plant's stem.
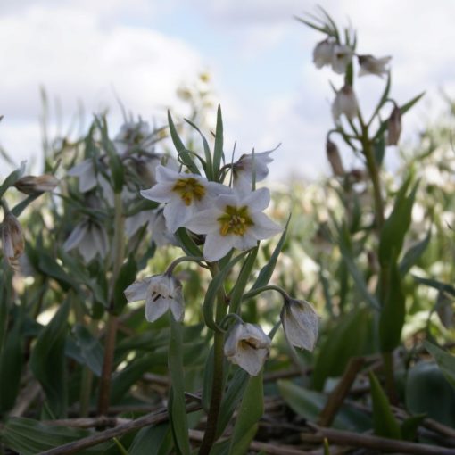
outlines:
[{"label": "upper broad green leaf beside the tall right plant's stem", "polygon": [[381,267],[388,267],[393,256],[400,256],[404,237],[408,232],[412,206],[416,197],[418,183],[408,193],[411,178],[407,178],[395,197],[393,211],[385,220],[379,239],[379,263]]}]

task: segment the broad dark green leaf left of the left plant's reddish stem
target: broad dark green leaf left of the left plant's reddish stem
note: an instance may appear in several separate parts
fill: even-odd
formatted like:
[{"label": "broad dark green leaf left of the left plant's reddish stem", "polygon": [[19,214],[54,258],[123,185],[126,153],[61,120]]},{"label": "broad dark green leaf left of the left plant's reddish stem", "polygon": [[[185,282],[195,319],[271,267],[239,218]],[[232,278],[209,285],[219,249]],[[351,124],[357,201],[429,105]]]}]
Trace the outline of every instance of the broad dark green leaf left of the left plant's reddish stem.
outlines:
[{"label": "broad dark green leaf left of the left plant's reddish stem", "polygon": [[51,322],[42,329],[30,357],[30,368],[42,385],[56,418],[66,415],[65,342],[69,314],[70,301],[66,299]]}]

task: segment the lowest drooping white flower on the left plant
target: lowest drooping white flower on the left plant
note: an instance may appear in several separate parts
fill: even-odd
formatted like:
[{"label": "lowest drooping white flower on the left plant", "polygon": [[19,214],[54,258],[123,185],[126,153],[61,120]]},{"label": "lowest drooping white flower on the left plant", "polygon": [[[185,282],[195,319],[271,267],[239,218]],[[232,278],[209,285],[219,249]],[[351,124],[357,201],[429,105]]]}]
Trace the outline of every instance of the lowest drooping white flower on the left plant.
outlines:
[{"label": "lowest drooping white flower on the left plant", "polygon": [[97,254],[105,258],[108,252],[107,234],[103,226],[86,219],[74,228],[63,244],[65,252],[77,248],[86,263]]}]

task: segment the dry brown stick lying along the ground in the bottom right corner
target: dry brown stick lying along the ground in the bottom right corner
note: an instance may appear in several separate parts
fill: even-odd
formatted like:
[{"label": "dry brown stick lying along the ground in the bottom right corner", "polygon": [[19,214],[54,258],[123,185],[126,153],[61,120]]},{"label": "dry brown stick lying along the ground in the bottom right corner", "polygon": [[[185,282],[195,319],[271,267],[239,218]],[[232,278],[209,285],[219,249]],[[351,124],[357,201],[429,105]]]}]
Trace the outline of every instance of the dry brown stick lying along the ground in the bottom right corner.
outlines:
[{"label": "dry brown stick lying along the ground in the bottom right corner", "polygon": [[393,451],[410,453],[412,455],[455,455],[455,449],[446,449],[445,447],[440,446],[420,443],[405,443],[404,441],[397,441],[379,436],[334,430],[332,428],[317,426],[311,424],[310,422],[307,422],[307,426],[317,430],[319,434],[322,434],[322,436],[327,438],[329,443],[376,449],[382,452]]}]

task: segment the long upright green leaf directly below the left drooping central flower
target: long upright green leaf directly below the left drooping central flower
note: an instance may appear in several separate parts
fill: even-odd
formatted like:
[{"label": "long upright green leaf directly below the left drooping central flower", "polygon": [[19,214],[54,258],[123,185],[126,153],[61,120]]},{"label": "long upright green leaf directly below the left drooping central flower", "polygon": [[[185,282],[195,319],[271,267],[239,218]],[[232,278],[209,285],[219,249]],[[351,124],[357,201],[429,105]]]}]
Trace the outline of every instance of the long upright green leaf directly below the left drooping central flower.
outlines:
[{"label": "long upright green leaf directly below the left drooping central flower", "polygon": [[180,455],[191,453],[188,439],[188,422],[186,419],[185,405],[185,376],[182,355],[182,328],[170,316],[170,345],[169,345],[169,372],[172,388],[168,409],[170,413],[170,426],[174,438],[174,445]]}]

